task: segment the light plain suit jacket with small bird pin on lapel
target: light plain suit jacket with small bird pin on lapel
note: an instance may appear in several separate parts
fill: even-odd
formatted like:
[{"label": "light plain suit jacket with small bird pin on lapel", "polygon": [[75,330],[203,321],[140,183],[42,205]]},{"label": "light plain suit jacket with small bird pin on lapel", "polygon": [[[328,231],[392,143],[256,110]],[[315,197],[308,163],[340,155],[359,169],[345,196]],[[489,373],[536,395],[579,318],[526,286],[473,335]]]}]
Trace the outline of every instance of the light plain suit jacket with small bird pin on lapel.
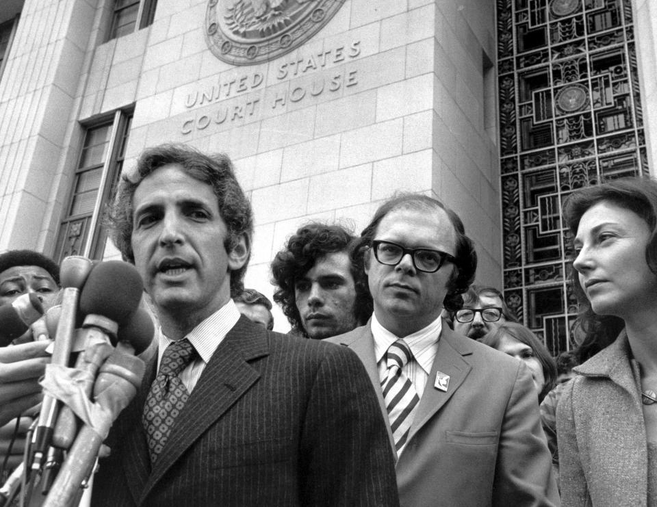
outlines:
[{"label": "light plain suit jacket with small bird pin on lapel", "polygon": [[[370,324],[327,341],[358,354],[387,421]],[[447,391],[434,386],[438,372],[450,377]],[[389,426],[388,436],[394,452]],[[526,365],[454,333],[443,321],[396,472],[402,506],[558,505],[537,393]]]}]

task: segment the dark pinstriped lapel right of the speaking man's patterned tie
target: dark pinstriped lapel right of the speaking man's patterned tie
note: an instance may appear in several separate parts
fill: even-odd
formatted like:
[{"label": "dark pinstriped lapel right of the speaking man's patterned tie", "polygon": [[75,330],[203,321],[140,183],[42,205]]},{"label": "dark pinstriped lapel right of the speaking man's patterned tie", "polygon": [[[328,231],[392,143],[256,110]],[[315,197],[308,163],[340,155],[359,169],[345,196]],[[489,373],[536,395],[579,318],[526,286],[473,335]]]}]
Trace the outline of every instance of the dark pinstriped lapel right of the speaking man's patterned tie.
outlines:
[{"label": "dark pinstriped lapel right of the speaking man's patterned tie", "polygon": [[247,361],[268,353],[266,330],[240,317],[198,379],[142,490],[142,501],[181,454],[257,381],[260,374]]}]

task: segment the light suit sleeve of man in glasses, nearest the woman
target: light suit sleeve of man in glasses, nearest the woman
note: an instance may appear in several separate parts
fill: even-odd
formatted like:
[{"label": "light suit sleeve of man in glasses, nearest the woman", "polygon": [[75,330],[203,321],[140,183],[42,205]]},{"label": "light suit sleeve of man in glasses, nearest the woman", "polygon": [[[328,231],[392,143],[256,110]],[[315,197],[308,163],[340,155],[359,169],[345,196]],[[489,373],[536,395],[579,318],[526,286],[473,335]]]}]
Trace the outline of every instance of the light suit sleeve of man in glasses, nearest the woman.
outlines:
[{"label": "light suit sleeve of man in glasses, nearest the woman", "polygon": [[493,505],[559,504],[552,459],[539,421],[537,393],[528,367],[521,363],[500,432]]}]

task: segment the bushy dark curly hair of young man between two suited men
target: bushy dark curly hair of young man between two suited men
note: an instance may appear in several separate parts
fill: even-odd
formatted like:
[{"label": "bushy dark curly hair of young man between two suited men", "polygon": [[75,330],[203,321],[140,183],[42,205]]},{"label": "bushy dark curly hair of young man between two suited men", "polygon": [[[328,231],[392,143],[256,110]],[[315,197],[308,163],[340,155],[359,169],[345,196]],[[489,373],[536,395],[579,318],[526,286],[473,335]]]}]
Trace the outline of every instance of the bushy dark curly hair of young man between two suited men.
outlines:
[{"label": "bushy dark curly hair of young man between two suited men", "polygon": [[[292,328],[306,335],[301,315],[296,307],[295,282],[313,268],[320,257],[333,252],[346,252],[355,242],[355,236],[343,226],[311,222],[301,226],[287,245],[272,261],[272,283],[276,285],[274,301],[281,305]],[[365,272],[351,266],[351,276],[356,288],[354,315],[359,324],[365,324],[372,315],[372,296]]]}]

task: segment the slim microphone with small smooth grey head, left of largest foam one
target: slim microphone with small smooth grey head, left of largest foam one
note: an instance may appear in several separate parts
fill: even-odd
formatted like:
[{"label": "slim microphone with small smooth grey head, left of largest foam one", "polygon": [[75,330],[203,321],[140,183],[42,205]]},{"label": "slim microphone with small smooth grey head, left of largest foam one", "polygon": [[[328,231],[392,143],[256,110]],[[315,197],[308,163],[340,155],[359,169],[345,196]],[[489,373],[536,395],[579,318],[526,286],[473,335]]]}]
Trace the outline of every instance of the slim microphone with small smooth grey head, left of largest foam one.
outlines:
[{"label": "slim microphone with small smooth grey head, left of largest foam one", "polygon": [[[57,322],[57,339],[53,349],[51,363],[68,366],[70,350],[75,339],[75,320],[77,317],[77,302],[81,287],[92,272],[93,265],[86,257],[78,255],[66,257],[60,266],[60,281],[62,283],[62,309]],[[41,469],[43,456],[50,445],[53,427],[57,417],[57,400],[51,395],[44,395],[39,414],[39,422],[34,432],[34,458],[32,471]]]}]

